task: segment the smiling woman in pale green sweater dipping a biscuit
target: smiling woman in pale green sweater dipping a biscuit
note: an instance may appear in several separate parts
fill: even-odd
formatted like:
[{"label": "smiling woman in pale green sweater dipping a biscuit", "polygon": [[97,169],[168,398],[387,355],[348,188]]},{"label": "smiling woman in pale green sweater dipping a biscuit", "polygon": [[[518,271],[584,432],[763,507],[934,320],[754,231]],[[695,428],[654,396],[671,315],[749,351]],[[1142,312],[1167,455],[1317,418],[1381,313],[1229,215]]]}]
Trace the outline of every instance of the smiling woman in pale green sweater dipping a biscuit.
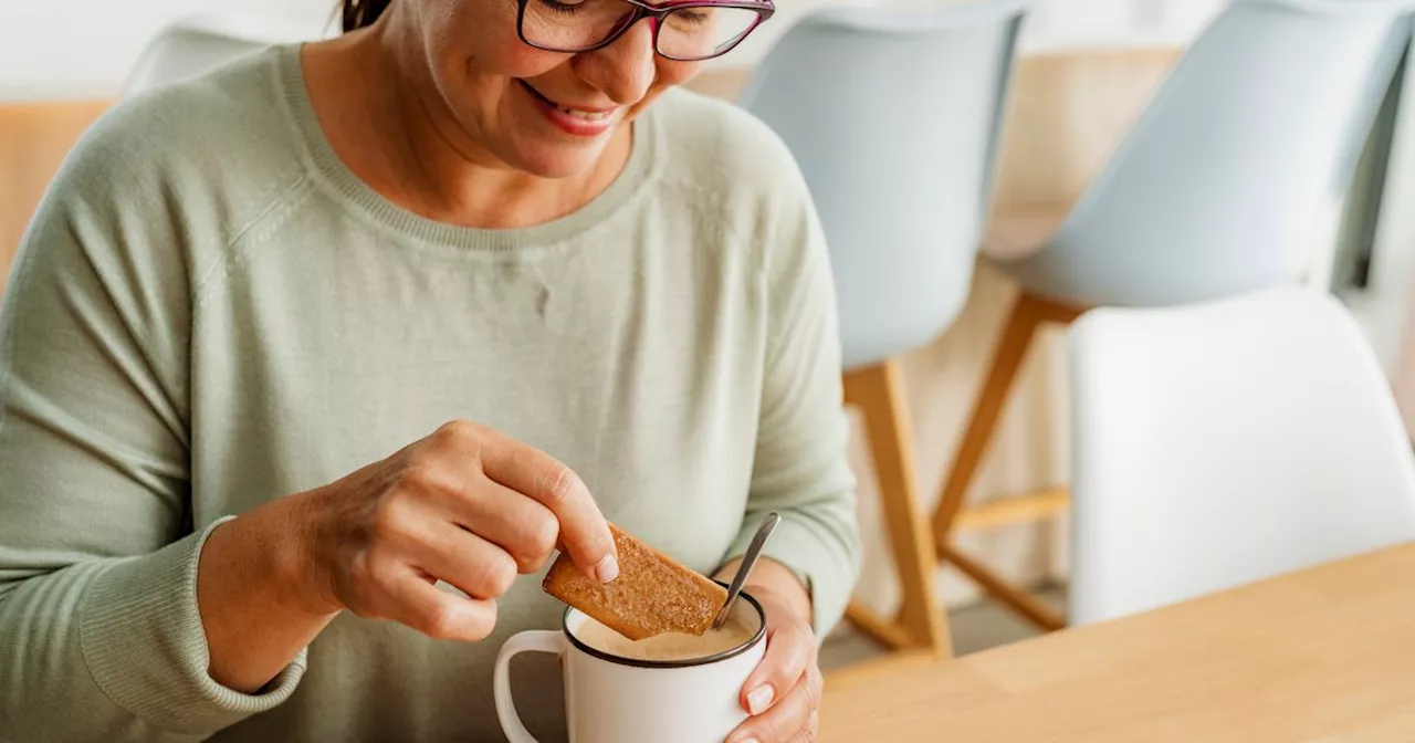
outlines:
[{"label": "smiling woman in pale green sweater dipping a biscuit", "polygon": [[606,519],[729,575],[768,511],[732,740],[814,736],[828,259],[782,144],[672,92],[770,4],[669,6],[348,0],[85,137],[0,324],[7,739],[498,739],[497,648],[558,623],[518,575],[613,580]]}]

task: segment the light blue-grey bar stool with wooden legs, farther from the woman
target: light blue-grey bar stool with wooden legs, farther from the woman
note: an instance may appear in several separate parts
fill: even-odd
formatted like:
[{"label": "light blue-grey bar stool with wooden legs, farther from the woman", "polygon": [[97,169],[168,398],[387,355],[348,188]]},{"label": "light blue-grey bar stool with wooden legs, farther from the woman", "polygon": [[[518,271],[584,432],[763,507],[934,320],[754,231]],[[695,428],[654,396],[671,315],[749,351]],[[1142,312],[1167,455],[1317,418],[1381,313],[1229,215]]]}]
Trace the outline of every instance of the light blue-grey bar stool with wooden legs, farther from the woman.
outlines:
[{"label": "light blue-grey bar stool with wooden legs, farther from the woman", "polygon": [[[934,535],[942,559],[1037,627],[1064,620],[951,548],[1037,328],[1087,307],[1299,283],[1315,249],[1336,239],[1354,166],[1408,44],[1405,4],[1235,1],[1180,59],[1060,231],[1030,256],[993,260],[1022,293],[944,483]],[[1065,502],[1065,491],[1053,490],[1009,505],[1036,518]]]}]

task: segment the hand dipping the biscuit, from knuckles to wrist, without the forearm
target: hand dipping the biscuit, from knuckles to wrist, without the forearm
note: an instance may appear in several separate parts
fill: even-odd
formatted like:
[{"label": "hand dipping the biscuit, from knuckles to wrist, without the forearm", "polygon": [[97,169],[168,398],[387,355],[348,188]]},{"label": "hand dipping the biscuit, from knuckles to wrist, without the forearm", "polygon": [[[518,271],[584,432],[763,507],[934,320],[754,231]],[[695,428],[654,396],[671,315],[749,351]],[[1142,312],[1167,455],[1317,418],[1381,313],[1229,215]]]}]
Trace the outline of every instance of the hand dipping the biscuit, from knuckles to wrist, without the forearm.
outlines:
[{"label": "hand dipping the biscuit, from knuckles to wrist, without the forearm", "polygon": [[579,476],[474,423],[447,423],[303,500],[307,586],[327,613],[474,641],[491,633],[516,575],[541,570],[556,548],[591,579],[618,575],[614,538]]}]

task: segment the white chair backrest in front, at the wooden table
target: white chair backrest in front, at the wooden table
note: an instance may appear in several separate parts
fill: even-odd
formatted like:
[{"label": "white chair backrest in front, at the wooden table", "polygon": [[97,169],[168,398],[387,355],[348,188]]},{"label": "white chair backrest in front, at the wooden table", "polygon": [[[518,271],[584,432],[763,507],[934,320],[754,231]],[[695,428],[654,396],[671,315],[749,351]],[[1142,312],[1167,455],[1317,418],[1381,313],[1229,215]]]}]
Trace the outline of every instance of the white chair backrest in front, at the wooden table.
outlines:
[{"label": "white chair backrest in front, at the wooden table", "polygon": [[1276,289],[1071,330],[1071,620],[1415,539],[1415,457],[1351,316]]}]

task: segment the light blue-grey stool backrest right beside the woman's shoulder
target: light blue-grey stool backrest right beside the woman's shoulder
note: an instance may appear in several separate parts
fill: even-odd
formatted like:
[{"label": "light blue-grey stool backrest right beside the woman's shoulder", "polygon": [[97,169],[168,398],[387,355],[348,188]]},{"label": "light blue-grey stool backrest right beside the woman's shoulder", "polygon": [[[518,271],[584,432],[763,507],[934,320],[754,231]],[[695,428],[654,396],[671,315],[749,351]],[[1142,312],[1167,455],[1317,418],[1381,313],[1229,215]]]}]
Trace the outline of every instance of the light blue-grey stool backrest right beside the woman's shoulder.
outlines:
[{"label": "light blue-grey stool backrest right beside the woman's shoulder", "polygon": [[1019,0],[819,10],[743,92],[821,212],[848,368],[921,345],[961,309],[1024,14]]}]

